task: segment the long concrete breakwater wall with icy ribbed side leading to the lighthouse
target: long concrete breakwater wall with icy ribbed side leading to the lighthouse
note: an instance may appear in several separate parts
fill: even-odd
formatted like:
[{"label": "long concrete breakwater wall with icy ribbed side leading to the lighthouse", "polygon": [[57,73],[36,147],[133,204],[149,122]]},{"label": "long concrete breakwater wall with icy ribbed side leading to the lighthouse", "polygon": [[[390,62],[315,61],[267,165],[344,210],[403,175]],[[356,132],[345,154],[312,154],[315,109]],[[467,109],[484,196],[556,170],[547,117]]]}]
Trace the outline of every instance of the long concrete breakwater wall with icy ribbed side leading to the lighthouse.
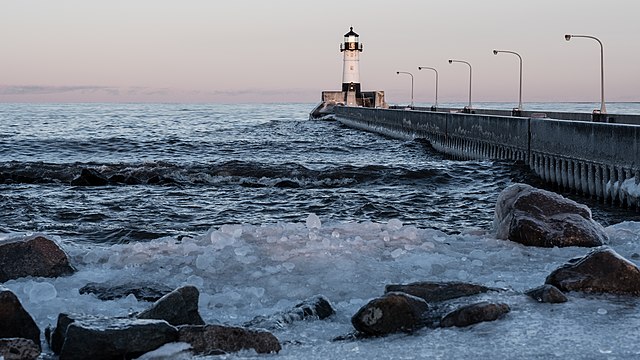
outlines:
[{"label": "long concrete breakwater wall with icy ribbed side leading to the lighthouse", "polygon": [[356,129],[426,139],[455,158],[521,161],[566,190],[640,206],[637,125],[361,107],[336,107],[335,115]]}]

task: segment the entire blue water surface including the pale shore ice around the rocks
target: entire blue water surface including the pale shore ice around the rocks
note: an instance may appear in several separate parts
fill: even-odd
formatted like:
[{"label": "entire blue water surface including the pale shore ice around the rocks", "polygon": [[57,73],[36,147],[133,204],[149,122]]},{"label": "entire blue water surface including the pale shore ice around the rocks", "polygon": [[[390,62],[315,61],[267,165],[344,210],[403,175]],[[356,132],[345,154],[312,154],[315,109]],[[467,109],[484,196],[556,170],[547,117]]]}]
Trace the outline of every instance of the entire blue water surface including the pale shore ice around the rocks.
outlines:
[{"label": "entire blue water surface including the pale shore ice around the rocks", "polygon": [[[115,316],[150,305],[80,295],[88,282],[192,284],[205,321],[230,325],[328,297],[334,317],[274,332],[283,359],[640,356],[637,300],[573,294],[550,307],[522,295],[587,252],[494,239],[499,192],[539,185],[526,169],[309,121],[313,105],[0,104],[0,240],[44,234],[78,269],[3,285],[41,328],[60,312]],[[73,185],[83,169],[108,184]],[[575,199],[608,226],[614,250],[637,258],[635,210]],[[385,284],[454,280],[509,289],[499,300],[512,312],[470,329],[331,341],[353,330],[350,317]]]}]

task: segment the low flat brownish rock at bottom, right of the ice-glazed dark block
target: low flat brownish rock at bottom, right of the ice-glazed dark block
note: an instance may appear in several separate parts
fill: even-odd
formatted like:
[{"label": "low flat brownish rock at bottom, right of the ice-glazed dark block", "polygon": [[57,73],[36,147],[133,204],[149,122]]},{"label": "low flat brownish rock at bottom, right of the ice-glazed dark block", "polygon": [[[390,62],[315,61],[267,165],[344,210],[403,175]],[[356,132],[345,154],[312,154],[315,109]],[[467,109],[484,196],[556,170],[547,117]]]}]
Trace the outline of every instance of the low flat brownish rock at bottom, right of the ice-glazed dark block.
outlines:
[{"label": "low flat brownish rock at bottom, right of the ice-glazed dark block", "polygon": [[243,349],[257,353],[277,353],[280,341],[270,332],[220,325],[184,325],[178,328],[178,341],[191,344],[197,355],[220,355]]}]

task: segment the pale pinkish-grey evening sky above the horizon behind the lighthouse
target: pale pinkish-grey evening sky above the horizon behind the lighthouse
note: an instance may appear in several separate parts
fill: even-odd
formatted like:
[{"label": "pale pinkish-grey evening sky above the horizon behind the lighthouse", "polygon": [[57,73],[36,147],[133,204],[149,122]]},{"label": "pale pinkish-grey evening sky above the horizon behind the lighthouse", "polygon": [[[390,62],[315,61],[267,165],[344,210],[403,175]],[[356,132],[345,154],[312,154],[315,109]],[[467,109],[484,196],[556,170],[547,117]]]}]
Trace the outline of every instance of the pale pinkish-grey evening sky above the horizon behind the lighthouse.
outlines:
[{"label": "pale pinkish-grey evening sky above the horizon behind the lighthouse", "polygon": [[389,103],[640,101],[638,0],[0,0],[0,102],[317,103],[353,26]]}]

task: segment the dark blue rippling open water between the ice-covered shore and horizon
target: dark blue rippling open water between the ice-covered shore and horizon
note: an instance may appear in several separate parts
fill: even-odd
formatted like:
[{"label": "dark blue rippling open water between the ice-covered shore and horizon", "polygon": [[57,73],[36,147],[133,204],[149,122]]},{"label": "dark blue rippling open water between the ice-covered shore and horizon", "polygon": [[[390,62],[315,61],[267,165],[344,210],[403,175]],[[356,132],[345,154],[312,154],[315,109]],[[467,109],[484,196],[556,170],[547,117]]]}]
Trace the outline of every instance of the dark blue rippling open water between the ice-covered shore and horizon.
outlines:
[{"label": "dark blue rippling open water between the ice-covered shore and horizon", "polygon": [[[312,106],[1,104],[0,232],[122,243],[314,213],[454,233],[487,228],[499,191],[527,177],[308,121]],[[83,169],[112,181],[71,185]]]}]

